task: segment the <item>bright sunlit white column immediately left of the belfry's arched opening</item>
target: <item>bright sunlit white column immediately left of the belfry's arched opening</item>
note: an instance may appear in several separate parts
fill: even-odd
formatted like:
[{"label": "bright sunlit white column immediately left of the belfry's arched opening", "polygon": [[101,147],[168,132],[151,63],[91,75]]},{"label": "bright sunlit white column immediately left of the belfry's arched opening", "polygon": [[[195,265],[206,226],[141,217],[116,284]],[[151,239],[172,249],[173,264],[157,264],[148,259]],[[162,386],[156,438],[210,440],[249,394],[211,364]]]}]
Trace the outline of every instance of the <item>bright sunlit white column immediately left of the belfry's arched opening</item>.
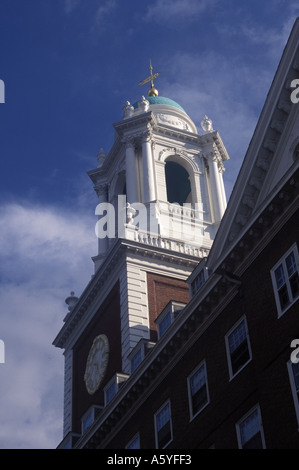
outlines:
[{"label": "bright sunlit white column immediately left of the belfry's arched opening", "polygon": [[154,164],[151,147],[151,134],[147,132],[142,139],[142,165],[144,203],[156,200]]}]

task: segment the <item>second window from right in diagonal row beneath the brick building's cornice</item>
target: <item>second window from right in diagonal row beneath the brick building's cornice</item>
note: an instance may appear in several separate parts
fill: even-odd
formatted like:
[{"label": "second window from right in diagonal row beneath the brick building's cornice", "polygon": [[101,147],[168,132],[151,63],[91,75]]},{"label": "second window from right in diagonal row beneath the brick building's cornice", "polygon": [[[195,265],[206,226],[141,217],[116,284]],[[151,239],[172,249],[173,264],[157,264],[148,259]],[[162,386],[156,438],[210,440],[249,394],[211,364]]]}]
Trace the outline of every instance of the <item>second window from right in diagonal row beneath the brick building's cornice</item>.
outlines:
[{"label": "second window from right in diagonal row beneath the brick building's cornice", "polygon": [[251,360],[249,336],[245,318],[225,337],[230,377],[234,377]]}]

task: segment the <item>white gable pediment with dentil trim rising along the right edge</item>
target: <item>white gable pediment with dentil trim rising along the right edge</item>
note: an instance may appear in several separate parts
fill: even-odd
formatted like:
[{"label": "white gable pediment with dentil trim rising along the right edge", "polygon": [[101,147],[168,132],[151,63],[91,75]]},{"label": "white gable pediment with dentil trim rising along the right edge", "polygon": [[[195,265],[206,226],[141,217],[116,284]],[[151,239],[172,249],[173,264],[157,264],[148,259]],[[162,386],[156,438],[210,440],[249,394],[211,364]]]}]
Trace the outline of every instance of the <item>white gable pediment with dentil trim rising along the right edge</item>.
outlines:
[{"label": "white gable pediment with dentil trim rising along the right edge", "polygon": [[292,139],[299,137],[299,103],[292,103],[290,97],[291,82],[296,78],[299,78],[299,18],[285,46],[210,251],[207,265],[211,271],[246,231],[254,214],[269,201],[280,182],[299,165],[298,159],[292,159]]}]

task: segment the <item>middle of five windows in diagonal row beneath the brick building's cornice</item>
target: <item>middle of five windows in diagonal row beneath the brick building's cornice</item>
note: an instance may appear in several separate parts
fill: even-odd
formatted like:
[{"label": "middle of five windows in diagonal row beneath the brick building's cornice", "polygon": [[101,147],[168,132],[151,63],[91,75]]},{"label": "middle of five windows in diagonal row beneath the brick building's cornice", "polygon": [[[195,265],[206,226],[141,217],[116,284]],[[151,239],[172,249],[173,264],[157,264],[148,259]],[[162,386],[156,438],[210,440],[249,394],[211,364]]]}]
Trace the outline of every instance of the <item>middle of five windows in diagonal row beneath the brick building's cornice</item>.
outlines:
[{"label": "middle of five windows in diagonal row beneath the brick building's cornice", "polygon": [[190,419],[193,419],[209,403],[205,363],[192,372],[187,381]]}]

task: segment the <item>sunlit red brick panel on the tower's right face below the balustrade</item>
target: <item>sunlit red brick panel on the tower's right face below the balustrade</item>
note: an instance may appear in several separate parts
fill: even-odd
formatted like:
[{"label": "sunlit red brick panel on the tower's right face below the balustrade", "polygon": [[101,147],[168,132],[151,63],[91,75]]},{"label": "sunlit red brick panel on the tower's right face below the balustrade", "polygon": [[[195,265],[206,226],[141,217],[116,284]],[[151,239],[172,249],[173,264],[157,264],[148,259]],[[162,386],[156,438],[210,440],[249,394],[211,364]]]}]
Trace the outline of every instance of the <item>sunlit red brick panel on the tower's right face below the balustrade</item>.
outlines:
[{"label": "sunlit red brick panel on the tower's right face below the balustrade", "polygon": [[168,302],[189,302],[189,289],[185,281],[158,274],[147,273],[147,292],[149,306],[150,339],[157,340],[155,319]]}]

